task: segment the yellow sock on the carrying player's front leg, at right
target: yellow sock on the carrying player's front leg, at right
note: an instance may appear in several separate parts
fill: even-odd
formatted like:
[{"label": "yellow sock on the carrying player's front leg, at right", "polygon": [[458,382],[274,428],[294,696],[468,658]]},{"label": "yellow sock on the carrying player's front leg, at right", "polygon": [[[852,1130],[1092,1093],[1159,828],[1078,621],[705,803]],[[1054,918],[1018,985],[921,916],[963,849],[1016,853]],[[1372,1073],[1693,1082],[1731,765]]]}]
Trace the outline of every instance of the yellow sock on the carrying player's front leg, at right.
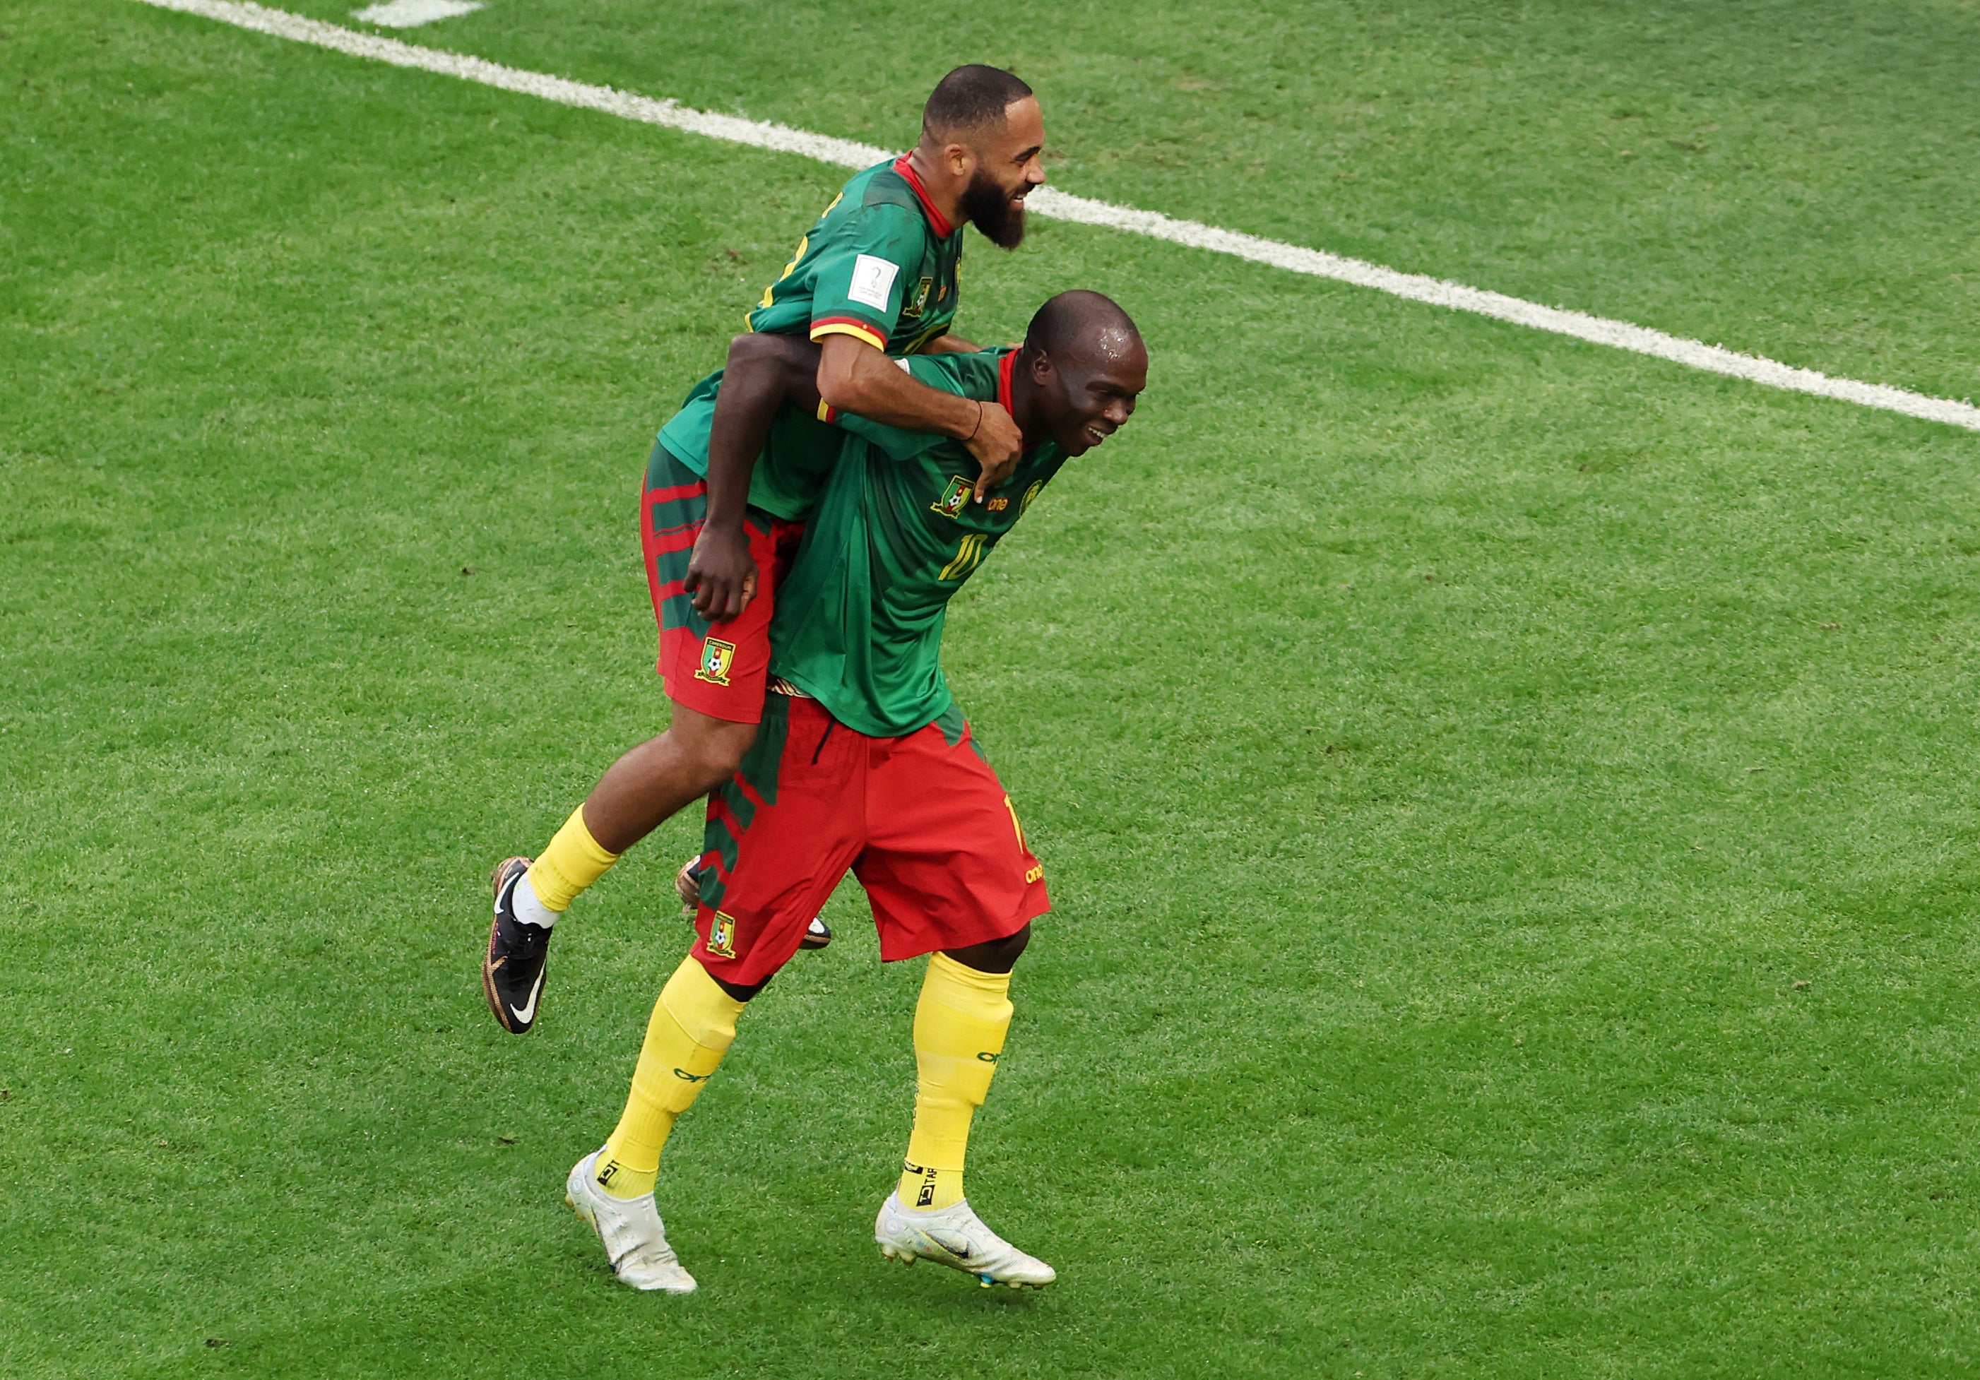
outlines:
[{"label": "yellow sock on the carrying player's front leg, at right", "polygon": [[962,1202],[962,1158],[970,1119],[990,1093],[990,1075],[1010,1034],[1010,974],[976,972],[948,954],[929,954],[915,1006],[915,1131],[901,1168],[901,1202],[946,1208]]}]

